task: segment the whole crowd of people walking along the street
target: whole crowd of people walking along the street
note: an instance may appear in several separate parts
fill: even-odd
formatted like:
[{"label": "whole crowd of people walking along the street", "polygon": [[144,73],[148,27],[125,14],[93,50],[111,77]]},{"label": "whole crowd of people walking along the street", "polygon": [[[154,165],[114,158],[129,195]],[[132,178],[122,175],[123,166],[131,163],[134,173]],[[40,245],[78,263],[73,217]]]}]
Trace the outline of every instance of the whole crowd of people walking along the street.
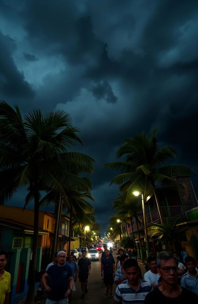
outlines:
[{"label": "whole crowd of people walking along the street", "polygon": [[[157,256],[148,257],[148,271],[142,278],[138,265],[137,255],[132,254],[129,248],[125,252],[118,250],[116,262],[113,254],[104,246],[101,254],[101,277],[106,286],[105,295],[114,297],[114,304],[182,304],[187,301],[198,301],[198,269],[196,261],[187,251],[178,255],[166,251]],[[136,252],[136,251],[134,251]],[[87,252],[82,251],[82,258],[76,263],[73,252],[66,256],[65,251],[54,255],[54,261],[47,265],[42,284],[46,292],[46,304],[67,304],[71,294],[75,291],[75,282],[79,278],[82,290],[81,298],[88,293],[88,277],[91,272],[91,261],[86,257]],[[183,257],[184,256],[184,257]],[[4,270],[7,262],[5,252],[0,252],[0,304],[9,304],[11,291],[11,276]],[[113,284],[116,291],[113,295]]]}]

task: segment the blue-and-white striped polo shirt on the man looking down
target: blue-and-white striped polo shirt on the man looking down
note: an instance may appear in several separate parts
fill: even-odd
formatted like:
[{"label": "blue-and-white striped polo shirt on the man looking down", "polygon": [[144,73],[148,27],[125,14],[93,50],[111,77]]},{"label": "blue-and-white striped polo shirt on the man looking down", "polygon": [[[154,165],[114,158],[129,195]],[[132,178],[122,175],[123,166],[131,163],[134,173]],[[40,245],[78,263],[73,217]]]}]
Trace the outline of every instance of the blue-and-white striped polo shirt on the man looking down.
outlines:
[{"label": "blue-and-white striped polo shirt on the man looking down", "polygon": [[149,282],[140,280],[140,287],[135,291],[129,285],[128,280],[125,280],[117,286],[114,299],[122,304],[143,304],[146,295],[151,290],[153,287]]}]

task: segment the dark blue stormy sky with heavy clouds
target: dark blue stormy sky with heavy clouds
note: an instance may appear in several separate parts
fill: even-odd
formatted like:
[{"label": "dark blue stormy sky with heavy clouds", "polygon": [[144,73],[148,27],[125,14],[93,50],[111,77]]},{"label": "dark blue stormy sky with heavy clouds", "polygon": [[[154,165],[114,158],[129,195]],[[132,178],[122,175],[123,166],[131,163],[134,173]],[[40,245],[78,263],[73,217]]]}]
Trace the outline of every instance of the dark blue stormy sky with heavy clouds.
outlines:
[{"label": "dark blue stormy sky with heavy clouds", "polygon": [[[116,160],[125,138],[158,127],[160,145],[178,152],[174,163],[198,171],[197,0],[0,0],[0,7],[0,99],[23,114],[70,113],[84,143],[75,150],[97,161],[101,231],[118,192],[109,187],[116,172],[102,166]],[[23,206],[25,194],[7,204]]]}]

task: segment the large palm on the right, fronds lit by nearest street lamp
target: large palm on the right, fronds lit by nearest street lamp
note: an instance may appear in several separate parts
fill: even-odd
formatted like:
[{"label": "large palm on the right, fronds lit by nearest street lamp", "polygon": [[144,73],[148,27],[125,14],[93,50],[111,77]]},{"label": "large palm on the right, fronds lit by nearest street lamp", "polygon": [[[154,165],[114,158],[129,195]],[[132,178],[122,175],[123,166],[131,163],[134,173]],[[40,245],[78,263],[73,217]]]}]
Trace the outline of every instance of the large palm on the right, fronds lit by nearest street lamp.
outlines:
[{"label": "large palm on the right, fronds lit by nearest street lamp", "polygon": [[142,192],[144,199],[148,195],[154,194],[162,224],[163,215],[156,184],[165,187],[181,187],[174,176],[190,175],[191,169],[183,165],[162,167],[169,159],[176,158],[176,152],[171,146],[160,148],[157,145],[156,132],[157,129],[153,129],[150,137],[143,132],[127,139],[117,152],[118,158],[127,154],[125,161],[108,163],[104,167],[121,172],[114,177],[111,184],[121,185],[120,190],[127,192],[128,201],[130,201],[134,191]]}]

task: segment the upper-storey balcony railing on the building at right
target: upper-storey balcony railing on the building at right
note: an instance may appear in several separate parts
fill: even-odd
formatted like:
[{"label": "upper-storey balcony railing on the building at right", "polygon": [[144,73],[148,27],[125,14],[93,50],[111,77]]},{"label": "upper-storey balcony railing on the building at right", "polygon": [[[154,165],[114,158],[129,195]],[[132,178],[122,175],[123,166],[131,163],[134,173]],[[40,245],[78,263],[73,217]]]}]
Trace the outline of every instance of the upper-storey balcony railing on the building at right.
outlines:
[{"label": "upper-storey balcony railing on the building at right", "polygon": [[[182,206],[163,206],[161,207],[162,215],[164,218],[166,217],[174,217],[176,215],[180,215],[181,217],[184,217],[183,208]],[[143,215],[139,217],[139,228],[144,226],[144,218]],[[154,209],[149,214],[146,215],[146,224],[152,224],[159,220],[159,213],[157,209]],[[133,224],[133,231],[137,230],[137,224],[136,222]],[[128,227],[128,232],[131,233],[132,229],[131,226]]]}]

